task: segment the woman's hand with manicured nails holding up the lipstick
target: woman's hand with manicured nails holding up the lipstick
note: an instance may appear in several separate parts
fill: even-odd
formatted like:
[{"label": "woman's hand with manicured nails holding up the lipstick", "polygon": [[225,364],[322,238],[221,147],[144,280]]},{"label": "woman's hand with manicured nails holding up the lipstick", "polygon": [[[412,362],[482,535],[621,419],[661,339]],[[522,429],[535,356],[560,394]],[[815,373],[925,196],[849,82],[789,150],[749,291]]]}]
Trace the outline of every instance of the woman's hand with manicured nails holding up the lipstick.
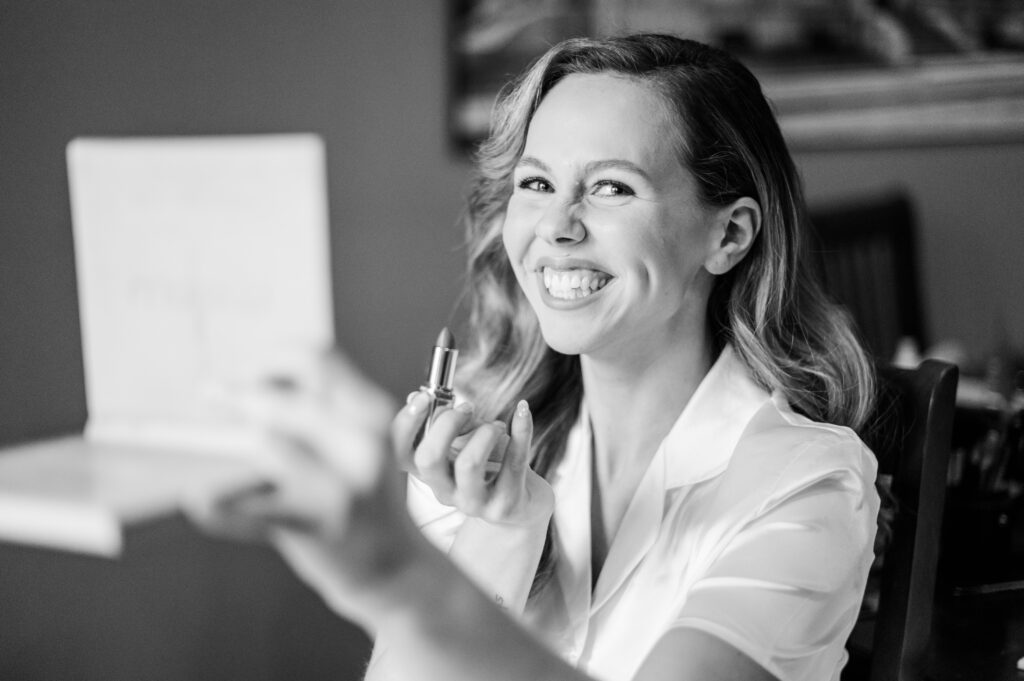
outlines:
[{"label": "woman's hand with manicured nails holding up the lipstick", "polygon": [[496,523],[546,523],[554,493],[529,467],[534,420],[527,402],[516,406],[508,431],[501,421],[474,422],[469,402],[444,409],[414,445],[429,405],[426,392],[412,393],[392,421],[399,465],[425,482],[437,501],[467,516]]}]

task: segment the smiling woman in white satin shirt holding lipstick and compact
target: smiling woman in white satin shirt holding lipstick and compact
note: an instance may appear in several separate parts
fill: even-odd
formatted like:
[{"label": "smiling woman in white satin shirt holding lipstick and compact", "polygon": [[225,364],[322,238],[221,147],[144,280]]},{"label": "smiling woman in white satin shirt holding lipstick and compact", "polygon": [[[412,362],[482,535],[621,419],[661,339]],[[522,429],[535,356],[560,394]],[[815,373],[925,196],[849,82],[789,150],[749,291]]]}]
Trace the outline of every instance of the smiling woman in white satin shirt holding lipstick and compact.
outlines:
[{"label": "smiling woman in white satin shirt holding lipstick and compact", "polygon": [[291,443],[275,490],[196,515],[268,534],[376,633],[369,678],[838,679],[878,512],[853,434],[872,378],[804,222],[737,61],[556,45],[480,152],[467,400],[414,449],[426,396],[385,434],[335,361],[259,400]]}]

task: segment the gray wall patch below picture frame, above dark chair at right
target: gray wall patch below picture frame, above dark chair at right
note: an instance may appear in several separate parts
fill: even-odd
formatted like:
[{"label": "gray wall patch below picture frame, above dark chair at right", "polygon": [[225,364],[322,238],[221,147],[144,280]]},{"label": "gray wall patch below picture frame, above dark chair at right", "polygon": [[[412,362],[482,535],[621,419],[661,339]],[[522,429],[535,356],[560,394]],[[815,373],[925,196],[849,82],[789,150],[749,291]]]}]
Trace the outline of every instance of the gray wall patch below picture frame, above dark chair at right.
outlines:
[{"label": "gray wall patch below picture frame, above dark chair at right", "polygon": [[1024,143],[798,154],[812,203],[906,188],[932,342],[1024,349]]}]

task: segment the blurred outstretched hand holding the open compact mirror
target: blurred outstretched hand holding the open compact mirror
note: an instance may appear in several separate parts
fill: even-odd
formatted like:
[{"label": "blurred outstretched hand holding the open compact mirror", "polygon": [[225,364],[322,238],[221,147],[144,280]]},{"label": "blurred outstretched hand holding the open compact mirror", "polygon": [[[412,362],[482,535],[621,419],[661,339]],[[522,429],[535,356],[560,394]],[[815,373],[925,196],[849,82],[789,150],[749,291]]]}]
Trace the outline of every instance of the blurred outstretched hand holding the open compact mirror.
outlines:
[{"label": "blurred outstretched hand holding the open compact mirror", "polygon": [[364,623],[425,546],[391,450],[393,403],[345,358],[237,395],[269,434],[265,484],[199,496],[186,512],[216,535],[268,541],[336,609]]}]

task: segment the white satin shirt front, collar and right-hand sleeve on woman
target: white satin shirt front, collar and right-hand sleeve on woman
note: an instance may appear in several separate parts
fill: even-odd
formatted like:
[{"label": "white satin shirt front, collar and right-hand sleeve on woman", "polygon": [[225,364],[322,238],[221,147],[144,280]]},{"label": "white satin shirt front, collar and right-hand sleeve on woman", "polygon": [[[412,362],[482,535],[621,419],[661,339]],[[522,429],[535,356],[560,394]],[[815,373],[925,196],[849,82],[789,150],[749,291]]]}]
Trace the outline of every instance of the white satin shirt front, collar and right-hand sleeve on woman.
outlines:
[{"label": "white satin shirt front, collar and right-hand sleeve on woman", "polygon": [[[593,593],[590,448],[583,414],[552,479],[556,579],[523,615],[543,640],[607,681],[631,679],[675,627],[783,681],[839,678],[879,506],[874,458],[852,431],[795,414],[727,347],[651,460]],[[414,515],[451,544],[460,514],[426,495]]]}]

